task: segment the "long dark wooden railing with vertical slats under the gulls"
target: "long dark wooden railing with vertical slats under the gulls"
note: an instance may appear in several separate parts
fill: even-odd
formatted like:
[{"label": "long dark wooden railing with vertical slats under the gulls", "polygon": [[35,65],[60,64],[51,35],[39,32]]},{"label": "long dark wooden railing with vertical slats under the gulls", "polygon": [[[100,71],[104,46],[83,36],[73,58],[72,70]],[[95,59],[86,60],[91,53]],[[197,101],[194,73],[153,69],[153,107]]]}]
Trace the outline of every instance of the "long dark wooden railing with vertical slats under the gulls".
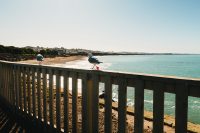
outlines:
[{"label": "long dark wooden railing with vertical slats under the gulls", "polygon": [[[72,82],[69,82],[69,79]],[[62,82],[61,82],[62,81]],[[78,82],[81,82],[82,121],[78,125]],[[175,132],[187,132],[188,96],[200,97],[200,80],[110,71],[70,69],[0,62],[0,95],[15,112],[36,125],[58,132],[99,131],[99,84],[105,86],[104,132],[112,132],[112,85],[118,85],[118,132],[127,132],[127,87],[135,88],[134,132],[144,127],[144,89],[153,91],[153,132],[163,132],[164,93],[175,99]],[[72,85],[70,85],[72,84]],[[72,86],[72,88],[70,88]],[[72,129],[69,91],[72,89]],[[81,130],[80,130],[81,129]]]}]

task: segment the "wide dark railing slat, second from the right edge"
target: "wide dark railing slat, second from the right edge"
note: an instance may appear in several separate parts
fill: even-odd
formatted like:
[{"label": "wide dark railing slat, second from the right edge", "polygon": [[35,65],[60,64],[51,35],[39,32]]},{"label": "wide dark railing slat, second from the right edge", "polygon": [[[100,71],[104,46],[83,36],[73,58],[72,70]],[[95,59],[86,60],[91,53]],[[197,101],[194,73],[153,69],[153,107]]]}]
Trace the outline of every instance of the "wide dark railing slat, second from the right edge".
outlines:
[{"label": "wide dark railing slat, second from the right edge", "polygon": [[153,89],[153,132],[162,133],[164,125],[164,85],[154,83]]}]

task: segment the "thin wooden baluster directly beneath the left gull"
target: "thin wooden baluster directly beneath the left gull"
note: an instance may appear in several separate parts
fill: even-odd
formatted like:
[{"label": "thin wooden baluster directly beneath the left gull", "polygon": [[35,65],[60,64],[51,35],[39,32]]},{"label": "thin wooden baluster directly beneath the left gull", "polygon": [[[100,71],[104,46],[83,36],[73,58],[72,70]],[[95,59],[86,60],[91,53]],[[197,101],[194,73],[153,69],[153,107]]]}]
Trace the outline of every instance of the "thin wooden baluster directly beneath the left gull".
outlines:
[{"label": "thin wooden baluster directly beneath the left gull", "polygon": [[41,120],[41,73],[37,68],[37,102],[38,102],[38,119]]}]

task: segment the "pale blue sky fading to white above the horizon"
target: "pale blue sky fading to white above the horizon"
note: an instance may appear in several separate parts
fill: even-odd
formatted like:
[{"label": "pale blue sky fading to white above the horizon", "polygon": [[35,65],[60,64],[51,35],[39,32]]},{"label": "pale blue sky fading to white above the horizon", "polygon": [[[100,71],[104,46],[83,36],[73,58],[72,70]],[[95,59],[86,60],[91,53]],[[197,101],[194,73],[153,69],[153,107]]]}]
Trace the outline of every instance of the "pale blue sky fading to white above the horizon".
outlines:
[{"label": "pale blue sky fading to white above the horizon", "polygon": [[200,0],[0,0],[0,44],[200,53]]}]

